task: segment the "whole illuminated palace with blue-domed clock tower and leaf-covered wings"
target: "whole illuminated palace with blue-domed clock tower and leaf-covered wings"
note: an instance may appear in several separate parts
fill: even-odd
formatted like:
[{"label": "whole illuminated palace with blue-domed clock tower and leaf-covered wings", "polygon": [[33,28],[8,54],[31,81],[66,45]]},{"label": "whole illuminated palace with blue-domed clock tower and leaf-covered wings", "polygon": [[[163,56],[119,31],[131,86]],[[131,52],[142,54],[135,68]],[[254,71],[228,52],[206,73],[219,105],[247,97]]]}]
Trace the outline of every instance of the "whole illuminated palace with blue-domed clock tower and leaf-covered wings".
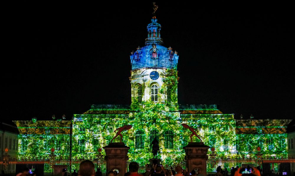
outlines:
[{"label": "whole illuminated palace with blue-domed clock tower and leaf-covered wings", "polygon": [[178,53],[163,46],[161,25],[156,17],[151,21],[145,46],[130,56],[131,105],[92,105],[73,120],[14,121],[20,132],[19,157],[47,156],[52,147],[63,157],[94,157],[116,128],[132,125],[122,132],[130,160],[146,164],[153,157],[151,141],[157,138],[163,163],[171,165],[184,159],[183,147],[190,141],[191,133],[181,123],[198,129],[218,155],[254,155],[258,146],[263,154],[287,155],[290,120],[235,120],[217,105],[178,105]]}]

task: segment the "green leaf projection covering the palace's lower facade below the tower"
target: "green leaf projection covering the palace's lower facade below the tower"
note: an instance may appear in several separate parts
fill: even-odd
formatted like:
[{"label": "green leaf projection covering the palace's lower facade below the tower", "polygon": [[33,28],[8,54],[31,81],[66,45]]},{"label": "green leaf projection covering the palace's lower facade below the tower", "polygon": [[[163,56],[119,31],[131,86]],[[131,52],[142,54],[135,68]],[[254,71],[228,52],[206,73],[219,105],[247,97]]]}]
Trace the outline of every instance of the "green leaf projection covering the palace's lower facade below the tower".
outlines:
[{"label": "green leaf projection covering the palace's lower facade below the tower", "polygon": [[[235,155],[235,146],[237,146],[238,155],[254,156],[258,146],[261,147],[261,152],[264,155],[287,154],[286,134],[235,134],[235,120],[232,115],[196,116],[191,114],[180,118],[179,112],[165,112],[165,104],[143,102],[143,105],[145,108],[141,112],[131,112],[129,116],[120,114],[74,115],[72,156],[78,158],[95,157],[98,154],[97,149],[108,145],[115,136],[114,130],[116,128],[132,125],[130,130],[122,132],[122,141],[130,147],[128,153],[130,161],[137,161],[144,165],[153,157],[150,147],[150,142],[155,137],[153,131],[156,132],[160,143],[158,157],[163,159],[163,164],[179,163],[184,160],[185,154],[182,148],[190,141],[191,134],[188,129],[181,126],[181,123],[199,129],[198,135],[204,144],[214,146],[219,156]],[[48,123],[50,122],[55,125],[59,123],[48,121]],[[19,157],[48,157],[52,147],[55,148],[56,155],[68,157],[70,135],[61,134],[67,132],[69,128],[65,127],[64,123],[65,121],[60,123],[61,127],[34,127],[39,128],[35,132],[44,134],[33,133],[34,131],[30,127],[32,125],[19,127],[22,129],[22,133],[19,135]],[[70,121],[67,122],[67,124],[69,123]],[[140,130],[143,131],[143,141],[140,142],[144,147],[137,149],[135,134]],[[165,136],[167,131],[172,132],[173,144],[167,143],[168,137]],[[114,142],[119,142],[119,139],[119,137],[116,138]],[[227,143],[224,142],[225,140]],[[199,142],[199,139],[194,136],[193,141]],[[209,149],[208,154],[210,153]],[[102,150],[102,154],[105,154],[104,150]]]}]

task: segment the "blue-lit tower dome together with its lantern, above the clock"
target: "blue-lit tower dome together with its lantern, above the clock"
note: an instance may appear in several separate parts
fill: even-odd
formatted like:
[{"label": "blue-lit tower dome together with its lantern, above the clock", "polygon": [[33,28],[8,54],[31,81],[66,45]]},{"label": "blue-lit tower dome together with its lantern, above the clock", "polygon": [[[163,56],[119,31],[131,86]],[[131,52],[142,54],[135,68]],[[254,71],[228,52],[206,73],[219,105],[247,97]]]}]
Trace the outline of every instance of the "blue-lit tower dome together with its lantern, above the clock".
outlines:
[{"label": "blue-lit tower dome together with its lantern, above the clock", "polygon": [[145,46],[131,53],[130,61],[132,70],[152,67],[177,69],[178,55],[172,48],[163,46],[163,39],[160,35],[161,25],[153,17],[152,22],[148,24],[148,38],[145,39]]}]

